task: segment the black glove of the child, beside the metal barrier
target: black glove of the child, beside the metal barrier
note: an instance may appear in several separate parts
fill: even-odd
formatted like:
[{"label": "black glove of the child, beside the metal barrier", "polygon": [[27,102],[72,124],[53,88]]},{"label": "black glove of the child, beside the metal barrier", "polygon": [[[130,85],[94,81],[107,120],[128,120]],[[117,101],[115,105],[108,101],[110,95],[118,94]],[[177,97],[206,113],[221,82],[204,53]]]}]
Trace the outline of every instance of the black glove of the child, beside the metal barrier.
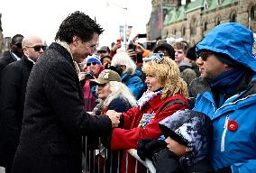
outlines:
[{"label": "black glove of the child, beside the metal barrier", "polygon": [[137,154],[142,160],[146,157],[151,159],[155,153],[166,148],[167,143],[163,140],[144,139],[138,142]]}]

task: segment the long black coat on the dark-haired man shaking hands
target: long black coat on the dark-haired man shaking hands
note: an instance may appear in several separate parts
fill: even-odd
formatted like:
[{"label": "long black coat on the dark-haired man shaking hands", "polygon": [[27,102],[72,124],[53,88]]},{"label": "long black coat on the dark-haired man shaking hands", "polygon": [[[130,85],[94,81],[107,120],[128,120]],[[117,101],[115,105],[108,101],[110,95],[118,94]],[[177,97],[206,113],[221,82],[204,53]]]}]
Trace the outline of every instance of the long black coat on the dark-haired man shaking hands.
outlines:
[{"label": "long black coat on the dark-haired man shaking hands", "polygon": [[13,172],[80,173],[82,135],[109,135],[108,116],[84,111],[71,55],[57,43],[45,50],[27,83],[23,127]]}]

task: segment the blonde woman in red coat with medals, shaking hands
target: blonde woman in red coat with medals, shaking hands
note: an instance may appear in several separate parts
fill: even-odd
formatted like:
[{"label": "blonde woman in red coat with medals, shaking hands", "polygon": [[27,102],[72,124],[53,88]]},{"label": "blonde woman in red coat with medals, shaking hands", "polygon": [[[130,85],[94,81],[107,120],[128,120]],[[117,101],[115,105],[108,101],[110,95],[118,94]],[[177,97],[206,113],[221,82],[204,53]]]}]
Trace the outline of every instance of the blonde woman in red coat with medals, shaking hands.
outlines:
[{"label": "blonde woman in red coat with medals, shaking hands", "polygon": [[[158,56],[157,56],[158,55]],[[121,115],[122,128],[115,128],[111,138],[112,150],[136,149],[138,141],[160,138],[158,123],[178,110],[187,109],[187,84],[179,77],[178,65],[168,57],[155,55],[144,63],[142,71],[147,77],[148,90],[138,100],[138,106]],[[114,111],[106,114],[120,115]],[[121,172],[126,169],[123,151]],[[135,159],[129,155],[128,171],[135,172]]]}]

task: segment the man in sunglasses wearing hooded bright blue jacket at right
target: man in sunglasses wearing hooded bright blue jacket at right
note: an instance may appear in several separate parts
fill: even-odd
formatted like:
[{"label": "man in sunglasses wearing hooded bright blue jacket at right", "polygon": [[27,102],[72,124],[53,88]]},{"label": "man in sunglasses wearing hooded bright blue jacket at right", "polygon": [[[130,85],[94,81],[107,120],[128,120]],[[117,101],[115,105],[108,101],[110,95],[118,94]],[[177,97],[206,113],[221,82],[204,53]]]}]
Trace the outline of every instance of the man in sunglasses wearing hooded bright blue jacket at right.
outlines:
[{"label": "man in sunglasses wearing hooded bright blue jacket at right", "polygon": [[210,116],[211,161],[218,173],[256,172],[256,58],[253,34],[239,23],[215,27],[197,44],[201,72],[190,86],[194,110]]}]

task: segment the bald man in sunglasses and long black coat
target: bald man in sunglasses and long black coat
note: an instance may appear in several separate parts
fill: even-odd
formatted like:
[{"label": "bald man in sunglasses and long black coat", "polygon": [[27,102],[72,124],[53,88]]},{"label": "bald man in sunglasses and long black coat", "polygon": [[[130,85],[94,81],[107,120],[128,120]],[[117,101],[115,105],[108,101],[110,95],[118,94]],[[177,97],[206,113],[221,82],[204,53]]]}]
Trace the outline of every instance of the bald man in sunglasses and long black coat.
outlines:
[{"label": "bald man in sunglasses and long black coat", "polygon": [[45,50],[41,38],[23,38],[23,57],[3,71],[0,94],[0,166],[11,172],[23,123],[23,107],[27,80],[35,61]]}]

